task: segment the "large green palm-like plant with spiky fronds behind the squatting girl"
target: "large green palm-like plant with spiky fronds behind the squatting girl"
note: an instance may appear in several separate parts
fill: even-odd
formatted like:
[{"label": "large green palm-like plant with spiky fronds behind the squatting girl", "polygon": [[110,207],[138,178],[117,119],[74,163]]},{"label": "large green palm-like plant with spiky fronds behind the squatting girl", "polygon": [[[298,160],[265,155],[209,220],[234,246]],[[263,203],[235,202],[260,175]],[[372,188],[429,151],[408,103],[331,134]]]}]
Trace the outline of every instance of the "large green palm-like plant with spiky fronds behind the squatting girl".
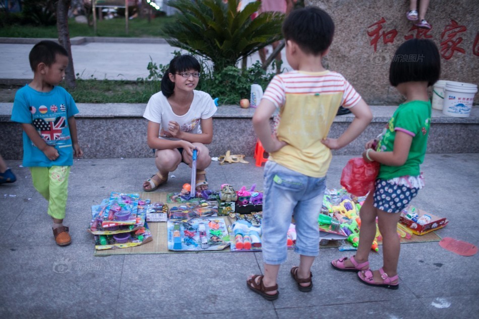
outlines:
[{"label": "large green palm-like plant with spiky fronds behind the squatting girl", "polygon": [[168,6],[181,14],[163,27],[166,41],[213,62],[213,71],[235,66],[243,57],[281,39],[282,13],[261,13],[254,20],[259,2],[241,12],[237,0],[172,0]]}]

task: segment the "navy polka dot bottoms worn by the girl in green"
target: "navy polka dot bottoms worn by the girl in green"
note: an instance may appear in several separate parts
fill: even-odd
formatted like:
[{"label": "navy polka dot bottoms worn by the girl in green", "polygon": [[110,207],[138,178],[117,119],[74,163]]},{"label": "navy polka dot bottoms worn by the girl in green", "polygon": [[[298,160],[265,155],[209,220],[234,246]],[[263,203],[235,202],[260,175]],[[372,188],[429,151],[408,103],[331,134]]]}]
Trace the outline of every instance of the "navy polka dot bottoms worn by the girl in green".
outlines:
[{"label": "navy polka dot bottoms worn by the girl in green", "polygon": [[419,188],[398,185],[390,180],[377,179],[374,190],[374,207],[387,213],[399,213],[417,195]]}]

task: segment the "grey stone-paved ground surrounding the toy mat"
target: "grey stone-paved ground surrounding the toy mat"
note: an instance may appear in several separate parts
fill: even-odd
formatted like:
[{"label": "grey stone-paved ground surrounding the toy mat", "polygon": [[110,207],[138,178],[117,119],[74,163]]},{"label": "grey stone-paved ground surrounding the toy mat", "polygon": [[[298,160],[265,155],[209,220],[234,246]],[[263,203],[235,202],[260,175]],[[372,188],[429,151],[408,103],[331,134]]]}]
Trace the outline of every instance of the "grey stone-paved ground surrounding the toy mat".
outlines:
[{"label": "grey stone-paved ground surrounding the toy mat", "polygon": [[[340,187],[350,156],[335,156],[328,188]],[[238,189],[263,186],[263,168],[213,162],[210,187],[231,183]],[[47,203],[35,192],[21,161],[7,161],[17,182],[0,185],[4,232],[0,235],[0,317],[2,318],[423,318],[466,319],[479,311],[477,255],[461,257],[438,242],[401,244],[400,288],[369,287],[354,273],[333,270],[330,261],[350,252],[322,248],[313,266],[310,293],[299,292],[289,275],[298,257],[288,252],[279,274],[280,297],[266,301],[245,287],[248,275],[262,272],[261,252],[129,254],[94,257],[86,232],[90,206],[113,190],[141,192],[154,173],[152,158],[80,159],[72,168],[65,224],[73,243],[57,246]],[[445,216],[437,234],[477,245],[479,154],[427,154],[422,166],[426,187],[413,203]],[[177,192],[190,179],[181,165],[160,188]],[[158,238],[154,238],[158,240]],[[371,253],[373,269],[382,265],[382,246]],[[66,272],[58,267],[74,265]],[[56,267],[56,268],[55,268]]]}]

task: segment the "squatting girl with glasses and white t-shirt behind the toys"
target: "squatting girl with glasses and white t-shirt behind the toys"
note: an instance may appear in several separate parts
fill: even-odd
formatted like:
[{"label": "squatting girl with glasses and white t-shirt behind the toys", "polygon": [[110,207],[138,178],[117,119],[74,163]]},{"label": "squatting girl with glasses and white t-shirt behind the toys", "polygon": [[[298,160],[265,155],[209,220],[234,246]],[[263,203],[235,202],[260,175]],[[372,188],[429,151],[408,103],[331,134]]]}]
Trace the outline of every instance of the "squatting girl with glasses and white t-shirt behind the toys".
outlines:
[{"label": "squatting girl with glasses and white t-shirt behind the toys", "polygon": [[198,151],[196,190],[208,189],[205,169],[211,163],[206,147],[213,139],[211,96],[195,88],[200,78],[200,63],[189,54],[175,56],[161,80],[161,91],[152,95],[143,117],[148,119],[147,142],[155,154],[158,172],[143,183],[152,192],[166,183],[168,174],[180,163],[192,166],[193,150]]}]

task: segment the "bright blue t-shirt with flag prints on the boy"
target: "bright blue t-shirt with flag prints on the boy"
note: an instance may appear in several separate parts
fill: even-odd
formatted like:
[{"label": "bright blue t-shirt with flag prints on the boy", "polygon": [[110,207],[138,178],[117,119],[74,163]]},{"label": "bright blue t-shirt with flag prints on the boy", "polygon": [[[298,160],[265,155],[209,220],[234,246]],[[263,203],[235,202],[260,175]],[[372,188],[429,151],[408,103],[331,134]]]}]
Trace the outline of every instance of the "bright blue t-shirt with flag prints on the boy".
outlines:
[{"label": "bright blue t-shirt with flag prints on the boy", "polygon": [[64,88],[54,86],[50,92],[38,92],[26,85],[17,91],[11,120],[32,124],[46,144],[58,151],[49,160],[23,132],[23,166],[51,167],[73,165],[73,146],[68,118],[78,113],[73,97]]}]

